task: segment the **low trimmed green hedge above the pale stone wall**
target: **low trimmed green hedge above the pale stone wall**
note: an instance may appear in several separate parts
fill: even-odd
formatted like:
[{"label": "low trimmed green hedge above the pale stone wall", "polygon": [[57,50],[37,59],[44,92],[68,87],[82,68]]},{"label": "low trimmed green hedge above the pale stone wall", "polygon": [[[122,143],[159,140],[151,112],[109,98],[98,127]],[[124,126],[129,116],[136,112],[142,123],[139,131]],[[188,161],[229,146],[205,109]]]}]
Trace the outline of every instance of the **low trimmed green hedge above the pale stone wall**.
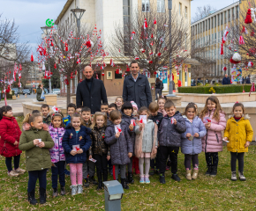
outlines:
[{"label": "low trimmed green hedge above the pale stone wall", "polygon": [[[215,88],[216,94],[225,94],[225,93],[237,93],[243,92],[243,85],[213,85],[213,86],[186,86],[178,87],[177,90],[179,93],[198,93],[198,94],[210,94],[209,89],[211,87]],[[251,90],[252,85],[244,85],[245,92]]]}]

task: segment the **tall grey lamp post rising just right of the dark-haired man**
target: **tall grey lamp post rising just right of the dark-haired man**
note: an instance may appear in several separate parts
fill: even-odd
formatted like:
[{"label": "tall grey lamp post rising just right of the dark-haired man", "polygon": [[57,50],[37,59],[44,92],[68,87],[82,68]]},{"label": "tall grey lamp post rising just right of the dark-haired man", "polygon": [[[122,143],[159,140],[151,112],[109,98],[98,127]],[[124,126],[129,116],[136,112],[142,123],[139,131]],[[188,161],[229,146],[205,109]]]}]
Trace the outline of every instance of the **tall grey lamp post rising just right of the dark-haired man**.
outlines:
[{"label": "tall grey lamp post rising just right of the dark-haired man", "polygon": [[[168,0],[168,10],[169,10],[169,41],[171,40],[171,10],[172,10],[172,0]],[[169,94],[167,97],[176,97],[173,94],[173,84],[172,84],[172,62],[171,53],[169,55]]]}]

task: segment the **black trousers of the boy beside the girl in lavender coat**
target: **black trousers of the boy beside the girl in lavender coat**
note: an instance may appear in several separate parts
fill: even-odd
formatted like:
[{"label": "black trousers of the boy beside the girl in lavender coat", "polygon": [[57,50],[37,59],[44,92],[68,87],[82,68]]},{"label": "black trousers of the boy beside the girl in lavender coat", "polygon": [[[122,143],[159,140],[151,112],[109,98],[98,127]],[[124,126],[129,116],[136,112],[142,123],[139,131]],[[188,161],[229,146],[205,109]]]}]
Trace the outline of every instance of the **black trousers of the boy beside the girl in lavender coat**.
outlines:
[{"label": "black trousers of the boy beside the girl in lavender coat", "polygon": [[177,174],[177,154],[178,154],[179,147],[159,147],[159,161],[160,161],[160,173],[164,175],[165,168],[166,168],[166,161],[169,156],[170,159],[170,167],[171,172],[173,174]]}]

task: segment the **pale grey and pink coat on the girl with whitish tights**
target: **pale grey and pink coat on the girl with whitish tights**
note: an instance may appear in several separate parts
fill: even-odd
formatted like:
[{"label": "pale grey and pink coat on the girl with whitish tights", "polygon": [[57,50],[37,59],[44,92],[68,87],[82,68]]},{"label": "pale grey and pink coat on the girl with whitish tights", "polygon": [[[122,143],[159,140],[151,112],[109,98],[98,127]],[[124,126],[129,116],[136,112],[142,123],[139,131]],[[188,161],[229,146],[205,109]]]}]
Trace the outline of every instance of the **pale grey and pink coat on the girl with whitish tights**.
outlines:
[{"label": "pale grey and pink coat on the girl with whitish tights", "polygon": [[153,120],[147,120],[147,124],[140,131],[139,125],[135,126],[136,141],[135,141],[135,156],[140,157],[142,152],[150,152],[151,158],[156,156],[154,149],[157,148],[157,131],[158,127]]}]

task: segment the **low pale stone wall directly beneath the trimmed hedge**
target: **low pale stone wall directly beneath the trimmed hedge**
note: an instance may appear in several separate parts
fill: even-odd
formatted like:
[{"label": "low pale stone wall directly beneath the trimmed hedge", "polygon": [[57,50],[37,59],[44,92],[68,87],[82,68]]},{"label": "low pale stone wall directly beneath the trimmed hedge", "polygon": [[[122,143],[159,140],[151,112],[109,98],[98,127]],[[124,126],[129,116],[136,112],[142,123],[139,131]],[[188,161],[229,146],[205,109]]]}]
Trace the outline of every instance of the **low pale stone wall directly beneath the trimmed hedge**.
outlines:
[{"label": "low pale stone wall directly beneath the trimmed hedge", "polygon": [[[206,103],[207,98],[213,96],[213,94],[195,94],[195,93],[177,93],[177,96],[182,97],[182,102],[193,103]],[[249,93],[228,93],[228,94],[214,94],[220,101],[220,103],[236,103],[238,102],[252,102],[256,101],[256,92],[252,92],[249,97]]]}]

